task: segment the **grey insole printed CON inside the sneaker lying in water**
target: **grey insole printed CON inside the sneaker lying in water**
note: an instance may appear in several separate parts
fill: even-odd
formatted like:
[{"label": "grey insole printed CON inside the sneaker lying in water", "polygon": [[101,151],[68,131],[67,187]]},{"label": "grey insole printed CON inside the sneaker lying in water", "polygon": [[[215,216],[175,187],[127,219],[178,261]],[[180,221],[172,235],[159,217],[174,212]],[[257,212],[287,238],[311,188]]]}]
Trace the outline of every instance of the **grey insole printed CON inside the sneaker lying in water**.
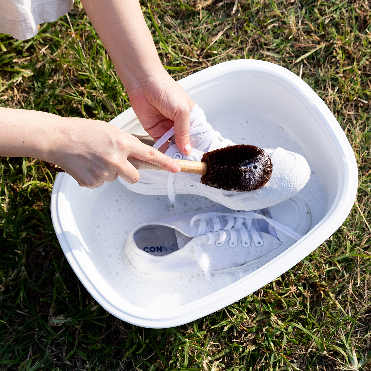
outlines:
[{"label": "grey insole printed CON inside the sneaker lying in water", "polygon": [[155,256],[168,255],[187,244],[191,238],[174,228],[155,226],[141,229],[134,234],[138,248]]}]

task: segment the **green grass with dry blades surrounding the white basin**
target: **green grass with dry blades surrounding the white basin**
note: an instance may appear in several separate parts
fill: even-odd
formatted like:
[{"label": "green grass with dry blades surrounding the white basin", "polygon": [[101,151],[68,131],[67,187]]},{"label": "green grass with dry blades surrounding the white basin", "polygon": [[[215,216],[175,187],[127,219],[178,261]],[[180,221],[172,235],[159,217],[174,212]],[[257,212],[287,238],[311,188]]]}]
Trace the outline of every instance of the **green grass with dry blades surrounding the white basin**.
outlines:
[{"label": "green grass with dry blades surrounding the white basin", "polygon": [[[357,200],[332,237],[274,282],[190,324],[145,329],[101,308],[64,258],[49,214],[54,175],[31,158],[2,158],[0,370],[371,370],[370,4],[142,5],[175,79],[241,58],[301,76],[351,142]],[[108,121],[129,106],[77,6],[33,39],[0,36],[0,77],[5,107]]]}]

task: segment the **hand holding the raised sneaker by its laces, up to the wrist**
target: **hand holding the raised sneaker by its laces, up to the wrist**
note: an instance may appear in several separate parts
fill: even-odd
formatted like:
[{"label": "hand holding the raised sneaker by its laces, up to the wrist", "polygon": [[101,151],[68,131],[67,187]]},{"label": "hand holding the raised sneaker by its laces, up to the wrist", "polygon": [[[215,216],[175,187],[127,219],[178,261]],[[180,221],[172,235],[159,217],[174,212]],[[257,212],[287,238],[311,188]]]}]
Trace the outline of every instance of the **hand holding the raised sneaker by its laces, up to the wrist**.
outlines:
[{"label": "hand holding the raised sneaker by its laces, up to the wrist", "polygon": [[189,116],[194,102],[165,70],[142,81],[139,88],[127,89],[127,92],[135,114],[155,141],[174,126],[178,148],[191,154]]}]

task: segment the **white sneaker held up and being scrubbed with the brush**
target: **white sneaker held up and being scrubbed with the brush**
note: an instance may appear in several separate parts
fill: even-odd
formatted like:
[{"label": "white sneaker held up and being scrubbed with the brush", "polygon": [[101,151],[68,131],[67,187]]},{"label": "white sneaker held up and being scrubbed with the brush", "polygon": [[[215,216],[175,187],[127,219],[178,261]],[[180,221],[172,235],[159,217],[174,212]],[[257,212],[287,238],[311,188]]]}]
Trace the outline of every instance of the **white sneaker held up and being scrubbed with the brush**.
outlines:
[{"label": "white sneaker held up and being scrubbed with the brush", "polygon": [[[158,149],[173,137],[174,128],[165,133],[153,146]],[[204,112],[195,105],[190,115],[190,142],[192,155],[183,154],[174,138],[171,139],[166,155],[175,159],[201,161],[204,152],[234,145],[221,137],[207,123]],[[224,191],[200,182],[200,175],[190,173],[168,173],[164,170],[140,170],[140,179],[130,184],[119,177],[119,181],[129,190],[148,195],[167,194],[175,203],[175,194],[197,194],[210,198],[219,204],[235,210],[256,210],[278,204],[298,193],[311,174],[308,162],[301,155],[282,148],[264,149],[269,155],[273,171],[268,182],[255,191]]]}]

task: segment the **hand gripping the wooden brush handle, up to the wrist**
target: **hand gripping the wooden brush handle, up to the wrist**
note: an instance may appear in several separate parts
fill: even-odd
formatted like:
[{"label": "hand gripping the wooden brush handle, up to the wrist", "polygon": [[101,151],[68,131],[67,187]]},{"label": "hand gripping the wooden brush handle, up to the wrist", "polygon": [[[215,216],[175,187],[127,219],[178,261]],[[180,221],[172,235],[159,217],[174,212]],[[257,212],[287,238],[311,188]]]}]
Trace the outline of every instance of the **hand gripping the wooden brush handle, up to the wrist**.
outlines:
[{"label": "hand gripping the wooden brush handle, up to the wrist", "polygon": [[139,171],[128,161],[130,156],[163,170],[180,171],[172,158],[102,121],[59,118],[51,143],[45,160],[60,166],[82,187],[97,188],[118,176],[129,183],[137,182]]}]

